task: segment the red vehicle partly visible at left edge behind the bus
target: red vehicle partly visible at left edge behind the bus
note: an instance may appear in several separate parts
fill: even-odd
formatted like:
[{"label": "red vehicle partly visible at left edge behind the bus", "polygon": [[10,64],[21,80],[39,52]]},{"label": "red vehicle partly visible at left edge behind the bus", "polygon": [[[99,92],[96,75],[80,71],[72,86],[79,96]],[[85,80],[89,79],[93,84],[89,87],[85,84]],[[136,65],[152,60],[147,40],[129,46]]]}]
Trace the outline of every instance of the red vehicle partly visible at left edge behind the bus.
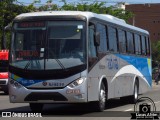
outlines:
[{"label": "red vehicle partly visible at left edge behind the bus", "polygon": [[0,50],[0,90],[8,94],[8,53],[9,50]]}]

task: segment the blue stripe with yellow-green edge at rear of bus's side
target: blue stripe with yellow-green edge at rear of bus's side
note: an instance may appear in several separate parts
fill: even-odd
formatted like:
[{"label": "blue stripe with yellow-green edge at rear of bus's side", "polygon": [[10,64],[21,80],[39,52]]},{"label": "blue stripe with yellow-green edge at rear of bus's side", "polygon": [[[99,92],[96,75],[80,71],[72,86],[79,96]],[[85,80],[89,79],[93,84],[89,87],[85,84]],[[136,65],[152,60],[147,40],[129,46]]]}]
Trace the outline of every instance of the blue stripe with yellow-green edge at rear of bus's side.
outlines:
[{"label": "blue stripe with yellow-green edge at rear of bus's side", "polygon": [[125,60],[129,64],[133,65],[136,69],[138,69],[143,76],[145,76],[146,80],[152,85],[152,73],[151,73],[151,60],[148,58],[140,58],[135,56],[126,56],[116,54],[117,57]]}]

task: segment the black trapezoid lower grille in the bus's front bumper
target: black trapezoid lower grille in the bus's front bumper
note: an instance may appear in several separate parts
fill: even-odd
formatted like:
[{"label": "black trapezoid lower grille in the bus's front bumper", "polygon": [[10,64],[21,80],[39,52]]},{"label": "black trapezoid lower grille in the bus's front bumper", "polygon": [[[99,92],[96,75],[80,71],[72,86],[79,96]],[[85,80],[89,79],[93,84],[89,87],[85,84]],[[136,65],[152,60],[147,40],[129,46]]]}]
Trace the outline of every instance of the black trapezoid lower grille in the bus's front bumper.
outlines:
[{"label": "black trapezoid lower grille in the bus's front bumper", "polygon": [[58,92],[43,93],[32,92],[26,96],[24,101],[38,101],[38,100],[53,100],[53,101],[67,101],[67,98]]}]

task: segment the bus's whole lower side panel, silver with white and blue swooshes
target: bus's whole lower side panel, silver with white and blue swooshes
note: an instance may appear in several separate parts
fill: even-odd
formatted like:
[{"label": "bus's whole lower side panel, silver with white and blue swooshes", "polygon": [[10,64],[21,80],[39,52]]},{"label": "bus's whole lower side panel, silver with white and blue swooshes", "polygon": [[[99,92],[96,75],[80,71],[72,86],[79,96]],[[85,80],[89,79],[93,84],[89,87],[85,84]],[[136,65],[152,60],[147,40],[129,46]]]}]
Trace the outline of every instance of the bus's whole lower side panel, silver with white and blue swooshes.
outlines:
[{"label": "bus's whole lower side panel, silver with white and blue swooshes", "polygon": [[103,57],[88,74],[88,100],[98,100],[101,76],[107,78],[109,99],[133,95],[136,78],[139,79],[139,93],[150,90],[151,74],[146,61],[146,58],[120,54],[108,54]]}]

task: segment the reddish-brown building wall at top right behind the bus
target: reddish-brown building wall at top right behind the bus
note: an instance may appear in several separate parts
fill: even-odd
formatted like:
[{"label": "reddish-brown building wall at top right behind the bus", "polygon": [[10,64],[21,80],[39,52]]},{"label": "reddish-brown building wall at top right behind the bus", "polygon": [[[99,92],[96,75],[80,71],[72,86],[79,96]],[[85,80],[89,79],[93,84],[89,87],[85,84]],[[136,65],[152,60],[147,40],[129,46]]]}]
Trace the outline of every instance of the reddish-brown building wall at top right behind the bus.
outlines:
[{"label": "reddish-brown building wall at top right behind the bus", "polygon": [[134,13],[130,24],[148,30],[152,41],[160,40],[160,4],[130,4],[126,10]]}]

